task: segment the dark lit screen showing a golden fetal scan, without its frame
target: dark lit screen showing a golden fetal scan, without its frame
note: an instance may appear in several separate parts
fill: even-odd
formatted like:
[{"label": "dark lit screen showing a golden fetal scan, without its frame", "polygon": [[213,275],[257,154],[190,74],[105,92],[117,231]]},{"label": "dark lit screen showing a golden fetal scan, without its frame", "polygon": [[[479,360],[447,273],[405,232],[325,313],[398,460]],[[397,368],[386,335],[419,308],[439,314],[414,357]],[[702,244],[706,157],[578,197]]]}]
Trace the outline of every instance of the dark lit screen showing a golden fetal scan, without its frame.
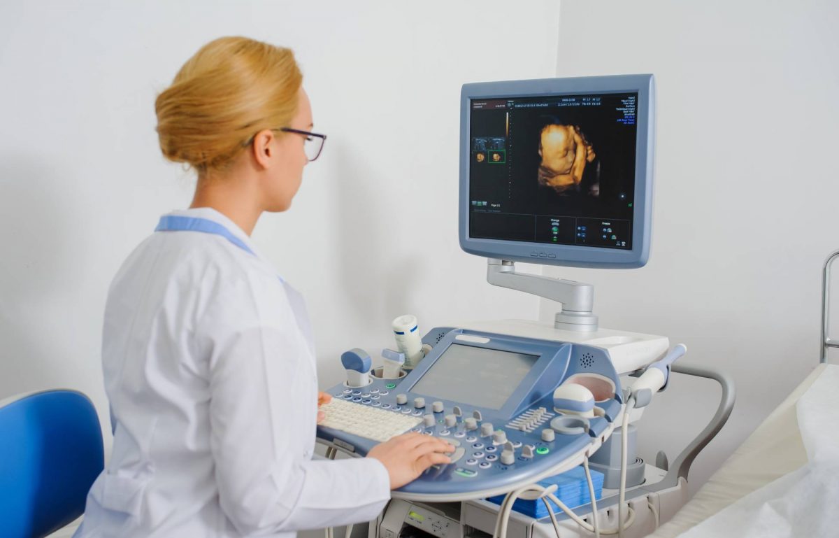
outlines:
[{"label": "dark lit screen showing a golden fetal scan, without its frame", "polygon": [[473,99],[469,236],[632,248],[638,93]]}]

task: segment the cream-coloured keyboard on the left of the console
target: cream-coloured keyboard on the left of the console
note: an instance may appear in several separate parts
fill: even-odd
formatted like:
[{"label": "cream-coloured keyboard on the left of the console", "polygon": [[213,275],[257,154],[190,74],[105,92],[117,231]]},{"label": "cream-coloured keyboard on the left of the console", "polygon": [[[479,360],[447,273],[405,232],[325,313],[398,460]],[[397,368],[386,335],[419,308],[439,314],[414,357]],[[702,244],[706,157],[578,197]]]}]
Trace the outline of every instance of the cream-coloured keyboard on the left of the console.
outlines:
[{"label": "cream-coloured keyboard on the left of the console", "polygon": [[321,405],[319,409],[326,413],[326,418],[320,421],[320,426],[346,431],[354,436],[379,442],[388,441],[391,437],[409,431],[422,422],[415,416],[353,404],[337,398],[333,398],[328,404]]}]

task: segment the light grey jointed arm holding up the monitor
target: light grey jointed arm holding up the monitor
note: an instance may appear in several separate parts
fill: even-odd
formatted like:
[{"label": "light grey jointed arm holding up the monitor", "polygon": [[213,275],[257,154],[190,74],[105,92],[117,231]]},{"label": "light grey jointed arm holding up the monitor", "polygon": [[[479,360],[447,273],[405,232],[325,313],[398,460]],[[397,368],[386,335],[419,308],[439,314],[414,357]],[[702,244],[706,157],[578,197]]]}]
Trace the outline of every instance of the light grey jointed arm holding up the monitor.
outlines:
[{"label": "light grey jointed arm holding up the monitor", "polygon": [[591,313],[594,306],[594,286],[591,284],[538,274],[516,273],[514,262],[492,258],[487,260],[487,282],[562,303],[562,310],[557,312],[554,318],[554,326],[557,329],[597,331],[597,316]]}]

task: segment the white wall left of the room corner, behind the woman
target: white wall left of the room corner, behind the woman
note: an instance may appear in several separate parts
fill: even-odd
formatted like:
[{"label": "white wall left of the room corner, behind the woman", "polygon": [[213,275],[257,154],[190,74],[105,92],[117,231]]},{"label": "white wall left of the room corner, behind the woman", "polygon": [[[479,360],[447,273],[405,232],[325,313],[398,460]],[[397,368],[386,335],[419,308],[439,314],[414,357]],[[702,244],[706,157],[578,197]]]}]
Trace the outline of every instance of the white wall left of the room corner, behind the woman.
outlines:
[{"label": "white wall left of the room corner, behind the woman", "polygon": [[329,135],[292,210],[254,233],[309,300],[322,386],[341,351],[392,344],[405,312],[426,330],[538,315],[457,245],[459,95],[552,76],[555,3],[69,4],[0,7],[0,398],[72,387],[107,419],[107,286],[193,188],[159,154],[154,97],[221,35],[294,48]]}]

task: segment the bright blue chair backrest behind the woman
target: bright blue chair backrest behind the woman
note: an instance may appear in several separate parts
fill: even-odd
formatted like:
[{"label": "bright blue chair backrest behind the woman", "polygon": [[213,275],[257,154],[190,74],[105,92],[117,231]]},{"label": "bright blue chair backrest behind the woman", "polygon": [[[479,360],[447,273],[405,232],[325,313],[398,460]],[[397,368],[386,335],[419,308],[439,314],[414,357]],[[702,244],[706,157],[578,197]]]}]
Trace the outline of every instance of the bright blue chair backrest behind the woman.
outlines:
[{"label": "bright blue chair backrest behind the woman", "polygon": [[0,535],[40,538],[75,520],[103,465],[101,426],[84,394],[0,402]]}]

